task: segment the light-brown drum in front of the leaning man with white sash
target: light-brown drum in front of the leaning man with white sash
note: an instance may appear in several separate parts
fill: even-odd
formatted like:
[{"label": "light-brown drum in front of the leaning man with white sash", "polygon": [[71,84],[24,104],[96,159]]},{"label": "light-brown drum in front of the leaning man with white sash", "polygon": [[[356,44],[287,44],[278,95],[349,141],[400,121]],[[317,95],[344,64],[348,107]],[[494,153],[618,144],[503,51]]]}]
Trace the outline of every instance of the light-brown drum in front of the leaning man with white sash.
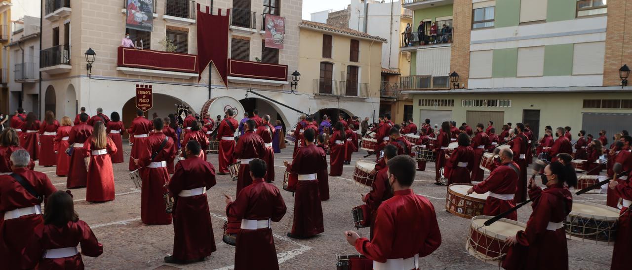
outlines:
[{"label": "light-brown drum in front of the leaning man with white sash", "polygon": [[483,207],[489,192],[484,194],[468,193],[471,184],[451,184],[447,187],[446,209],[448,212],[456,214],[461,218],[473,218],[483,214]]}]

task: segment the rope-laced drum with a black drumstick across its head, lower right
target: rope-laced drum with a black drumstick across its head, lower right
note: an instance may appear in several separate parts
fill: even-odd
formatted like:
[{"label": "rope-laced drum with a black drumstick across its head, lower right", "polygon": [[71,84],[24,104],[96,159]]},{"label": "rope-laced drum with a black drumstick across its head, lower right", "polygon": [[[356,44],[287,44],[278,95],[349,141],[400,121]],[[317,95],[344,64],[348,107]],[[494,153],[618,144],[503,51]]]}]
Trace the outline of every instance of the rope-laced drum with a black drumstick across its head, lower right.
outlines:
[{"label": "rope-laced drum with a black drumstick across its head, lower right", "polygon": [[465,249],[477,259],[494,266],[504,259],[509,245],[505,243],[508,237],[525,230],[526,224],[515,220],[500,220],[485,226],[483,223],[493,216],[475,216],[471,220],[470,233]]}]

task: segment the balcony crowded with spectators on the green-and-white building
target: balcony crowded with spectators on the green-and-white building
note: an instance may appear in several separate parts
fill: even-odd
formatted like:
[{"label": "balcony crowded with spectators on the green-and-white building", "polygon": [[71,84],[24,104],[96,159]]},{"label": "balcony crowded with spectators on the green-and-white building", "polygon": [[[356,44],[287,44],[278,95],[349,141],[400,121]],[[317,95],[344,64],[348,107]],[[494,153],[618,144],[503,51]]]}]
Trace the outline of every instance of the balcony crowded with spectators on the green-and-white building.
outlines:
[{"label": "balcony crowded with spectators on the green-and-white building", "polygon": [[407,52],[414,52],[422,47],[447,47],[452,45],[454,28],[437,30],[435,35],[430,30],[423,32],[401,33],[399,48]]}]

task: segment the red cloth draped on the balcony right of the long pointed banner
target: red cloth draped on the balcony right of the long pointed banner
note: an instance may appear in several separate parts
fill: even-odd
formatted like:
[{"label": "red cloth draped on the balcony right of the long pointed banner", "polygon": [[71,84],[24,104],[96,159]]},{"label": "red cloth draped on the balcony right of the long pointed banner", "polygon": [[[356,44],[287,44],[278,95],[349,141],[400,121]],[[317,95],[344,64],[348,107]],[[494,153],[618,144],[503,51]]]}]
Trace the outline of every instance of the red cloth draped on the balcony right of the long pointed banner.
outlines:
[{"label": "red cloth draped on the balcony right of the long pointed banner", "polygon": [[229,59],[228,76],[287,81],[288,66]]}]

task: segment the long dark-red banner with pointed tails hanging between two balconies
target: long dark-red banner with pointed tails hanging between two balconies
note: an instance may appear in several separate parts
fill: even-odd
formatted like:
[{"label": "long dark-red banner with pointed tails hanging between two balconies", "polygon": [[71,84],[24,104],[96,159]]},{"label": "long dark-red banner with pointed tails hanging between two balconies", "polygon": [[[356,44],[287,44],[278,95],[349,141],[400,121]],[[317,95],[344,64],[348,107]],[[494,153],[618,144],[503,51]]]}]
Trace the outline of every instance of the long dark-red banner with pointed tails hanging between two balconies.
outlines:
[{"label": "long dark-red banner with pointed tails hanging between two balconies", "polygon": [[217,15],[200,10],[200,4],[197,4],[197,38],[198,38],[198,63],[200,79],[202,71],[209,64],[213,65],[219,72],[224,81],[224,85],[228,86],[226,80],[226,66],[228,66],[228,21],[230,18],[230,9],[226,9],[226,16],[222,16],[222,9],[217,9]]}]

